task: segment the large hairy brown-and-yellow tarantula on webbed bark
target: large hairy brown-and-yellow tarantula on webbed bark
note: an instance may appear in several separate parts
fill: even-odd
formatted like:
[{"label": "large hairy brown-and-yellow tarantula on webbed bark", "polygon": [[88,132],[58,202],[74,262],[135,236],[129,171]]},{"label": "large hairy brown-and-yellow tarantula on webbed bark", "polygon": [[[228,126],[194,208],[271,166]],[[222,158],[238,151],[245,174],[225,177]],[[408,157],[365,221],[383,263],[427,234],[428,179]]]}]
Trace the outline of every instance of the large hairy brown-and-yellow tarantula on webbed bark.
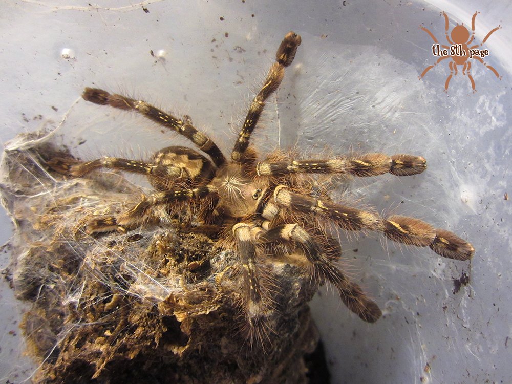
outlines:
[{"label": "large hairy brown-and-yellow tarantula on webbed bark", "polygon": [[[86,88],[83,98],[96,104],[108,104],[122,110],[136,111],[170,130],[190,139],[211,161],[197,151],[170,146],[157,152],[150,162],[105,157],[88,162],[53,158],[50,166],[58,172],[81,177],[98,168],[121,169],[147,175],[155,193],[141,198],[131,209],[117,216],[89,220],[86,232],[126,231],[154,219],[156,206],[165,206],[171,214],[181,213],[182,220],[199,226],[218,228],[216,238],[224,248],[234,248],[240,255],[245,283],[245,317],[249,328],[259,333],[265,326],[272,305],[257,262],[259,252],[298,250],[304,254],[312,276],[327,280],[339,291],[347,307],[366,322],[381,316],[378,306],[349,281],[334,264],[341,253],[326,223],[350,230],[382,232],[393,241],[430,247],[442,257],[467,260],[474,248],[456,234],[437,229],[421,220],[393,215],[383,218],[373,211],[360,210],[333,202],[328,191],[318,188],[312,174],[344,174],[368,177],[391,173],[410,176],[426,168],[421,156],[393,156],[370,153],[336,156],[322,160],[294,159],[281,152],[262,161],[249,146],[268,97],[278,89],[291,65],[301,37],[289,32],[281,42],[275,62],[259,93],[249,106],[242,130],[226,160],[217,145],[198,131],[188,117],[178,118],[154,106],[100,89]],[[321,192],[313,192],[320,189]],[[186,212],[185,219],[183,211]]]}]

